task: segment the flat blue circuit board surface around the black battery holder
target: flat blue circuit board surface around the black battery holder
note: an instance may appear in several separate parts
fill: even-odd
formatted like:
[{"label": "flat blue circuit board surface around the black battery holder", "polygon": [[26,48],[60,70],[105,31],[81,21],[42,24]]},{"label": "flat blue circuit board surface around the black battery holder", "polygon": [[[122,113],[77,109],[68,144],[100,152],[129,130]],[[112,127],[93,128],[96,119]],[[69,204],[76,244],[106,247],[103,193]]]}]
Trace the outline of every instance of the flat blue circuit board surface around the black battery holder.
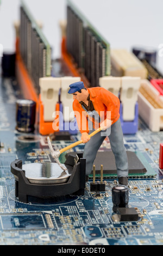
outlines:
[{"label": "flat blue circuit board surface around the black battery holder", "polygon": [[[112,211],[111,190],[116,175],[104,175],[104,192],[92,192],[92,177],[86,182],[82,196],[36,198],[22,203],[15,196],[15,177],[10,164],[16,159],[23,164],[54,162],[46,136],[37,132],[16,130],[16,100],[22,99],[15,78],[0,80],[0,244],[1,245],[163,245],[163,173],[159,168],[160,143],[163,133],[151,132],[139,118],[135,135],[124,135],[127,151],[137,154],[146,167],[143,175],[130,175],[129,208],[139,212],[137,221],[118,221]],[[52,140],[55,150],[80,139]],[[82,152],[84,144],[68,153]],[[99,153],[110,150],[106,139]],[[66,155],[61,155],[64,162]],[[99,177],[97,175],[96,180]]]}]

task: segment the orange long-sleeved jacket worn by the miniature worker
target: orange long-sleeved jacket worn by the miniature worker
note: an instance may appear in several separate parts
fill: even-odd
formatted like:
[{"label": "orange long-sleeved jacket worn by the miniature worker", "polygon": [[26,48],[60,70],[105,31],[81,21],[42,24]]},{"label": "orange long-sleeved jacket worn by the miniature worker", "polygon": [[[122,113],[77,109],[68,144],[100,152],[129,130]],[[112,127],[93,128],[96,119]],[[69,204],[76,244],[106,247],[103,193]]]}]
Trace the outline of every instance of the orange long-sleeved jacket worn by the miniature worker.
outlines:
[{"label": "orange long-sleeved jacket worn by the miniature worker", "polygon": [[[118,97],[102,87],[93,87],[87,90],[90,94],[90,100],[93,103],[95,111],[99,114],[99,117],[102,117],[102,121],[107,118],[114,124],[120,118],[120,100]],[[73,101],[73,111],[80,132],[89,132],[86,111],[78,100]],[[107,112],[110,113],[110,117]],[[92,122],[94,121],[92,120]]]}]

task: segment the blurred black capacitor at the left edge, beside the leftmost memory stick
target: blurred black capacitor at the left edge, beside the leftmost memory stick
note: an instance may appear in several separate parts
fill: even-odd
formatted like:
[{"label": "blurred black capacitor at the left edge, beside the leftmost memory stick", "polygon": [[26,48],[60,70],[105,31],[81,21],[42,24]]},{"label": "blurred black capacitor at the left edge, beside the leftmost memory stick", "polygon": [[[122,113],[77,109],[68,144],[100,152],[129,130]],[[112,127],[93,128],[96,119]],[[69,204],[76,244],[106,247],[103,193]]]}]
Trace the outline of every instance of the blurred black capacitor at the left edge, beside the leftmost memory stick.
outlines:
[{"label": "blurred black capacitor at the left edge, beside the leftmost memory stick", "polygon": [[2,57],[2,76],[15,77],[15,52],[3,52]]}]

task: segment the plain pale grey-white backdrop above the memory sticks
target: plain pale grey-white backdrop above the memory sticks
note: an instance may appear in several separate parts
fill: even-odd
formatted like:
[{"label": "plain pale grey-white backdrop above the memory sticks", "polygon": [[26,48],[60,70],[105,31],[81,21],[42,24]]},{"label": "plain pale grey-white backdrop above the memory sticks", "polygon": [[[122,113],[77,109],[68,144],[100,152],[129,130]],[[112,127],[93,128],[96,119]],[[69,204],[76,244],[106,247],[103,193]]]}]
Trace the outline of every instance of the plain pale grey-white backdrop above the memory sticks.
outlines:
[{"label": "plain pale grey-white backdrop above the memory sticks", "polygon": [[[66,19],[66,0],[24,0],[35,20],[42,21],[43,33],[53,48],[53,58],[60,57],[59,21]],[[80,12],[110,43],[111,48],[154,47],[157,64],[163,71],[162,0],[72,0]],[[0,7],[0,44],[4,51],[15,50],[13,23],[19,20],[19,0],[2,0]],[[163,51],[161,51],[161,54]],[[163,55],[163,54],[162,54]]]}]

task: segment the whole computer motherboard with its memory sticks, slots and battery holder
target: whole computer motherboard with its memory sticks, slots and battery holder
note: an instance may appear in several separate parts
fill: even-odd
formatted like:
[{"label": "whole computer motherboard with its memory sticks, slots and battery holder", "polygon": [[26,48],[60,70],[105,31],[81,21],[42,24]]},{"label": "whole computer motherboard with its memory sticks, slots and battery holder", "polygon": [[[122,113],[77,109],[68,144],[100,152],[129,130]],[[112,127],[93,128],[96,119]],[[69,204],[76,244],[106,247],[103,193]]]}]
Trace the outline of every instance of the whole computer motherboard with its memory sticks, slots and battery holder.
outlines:
[{"label": "whole computer motherboard with its memory sticks, slots and battery holder", "polygon": [[[155,59],[155,52],[135,49],[137,58],[142,52],[143,58],[146,57],[141,57],[141,62],[122,49],[112,52],[110,43],[70,0],[66,12],[67,25],[61,30],[61,58],[52,60],[51,46],[23,1],[20,25],[15,26],[16,52],[3,56],[0,245],[54,245],[60,246],[58,253],[72,254],[104,253],[108,245],[163,245],[163,165],[160,164],[163,81],[162,75],[148,63],[149,57]],[[141,92],[133,76],[141,77]],[[159,85],[156,84],[159,93],[154,84],[149,84],[158,78],[161,79]],[[121,117],[122,103],[131,92],[139,95],[139,102],[133,97],[135,105],[131,101],[127,105],[134,106],[134,118],[120,117],[123,127],[129,124],[129,129],[123,132],[129,163],[127,186],[118,186],[108,137],[98,150],[92,173],[86,177],[84,144],[78,144],[80,132],[61,131],[61,126],[59,132],[52,129],[53,108],[58,107],[61,113],[64,104],[70,106],[67,87],[79,80],[86,88],[101,86],[107,90],[117,86],[116,81],[121,82],[124,90],[125,83],[130,81],[127,96],[120,97]],[[120,96],[120,87],[114,89]],[[23,108],[24,101],[25,107],[28,104],[30,107]],[[32,112],[34,106],[35,113]],[[135,127],[137,130],[132,130]],[[68,147],[73,143],[77,143],[75,147]],[[59,155],[58,164],[52,150],[59,152],[66,147],[68,149]],[[64,170],[52,180],[51,168],[57,173],[60,166],[70,168],[71,175],[66,176]],[[39,168],[42,176],[35,176]],[[121,194],[119,207],[114,200],[116,193]],[[125,205],[121,205],[122,199]],[[73,250],[73,246],[82,246],[82,249]]]}]

